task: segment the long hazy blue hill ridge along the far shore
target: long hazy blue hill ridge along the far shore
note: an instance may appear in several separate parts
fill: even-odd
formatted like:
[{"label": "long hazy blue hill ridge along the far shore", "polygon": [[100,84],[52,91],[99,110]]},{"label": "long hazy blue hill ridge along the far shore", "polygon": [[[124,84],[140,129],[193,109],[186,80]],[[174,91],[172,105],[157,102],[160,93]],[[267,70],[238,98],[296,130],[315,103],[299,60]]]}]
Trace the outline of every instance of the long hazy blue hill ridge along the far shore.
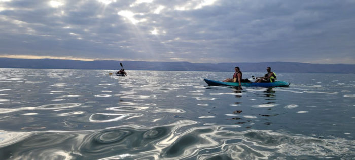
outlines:
[{"label": "long hazy blue hill ridge along the far shore", "polygon": [[270,66],[275,72],[303,73],[355,73],[355,65],[345,64],[310,64],[295,62],[262,63],[190,63],[190,62],[148,62],[148,61],[114,61],[114,60],[59,60],[59,59],[12,59],[0,58],[0,68],[38,68],[38,69],[121,69],[157,71],[234,71],[239,66],[244,72],[265,72]]}]

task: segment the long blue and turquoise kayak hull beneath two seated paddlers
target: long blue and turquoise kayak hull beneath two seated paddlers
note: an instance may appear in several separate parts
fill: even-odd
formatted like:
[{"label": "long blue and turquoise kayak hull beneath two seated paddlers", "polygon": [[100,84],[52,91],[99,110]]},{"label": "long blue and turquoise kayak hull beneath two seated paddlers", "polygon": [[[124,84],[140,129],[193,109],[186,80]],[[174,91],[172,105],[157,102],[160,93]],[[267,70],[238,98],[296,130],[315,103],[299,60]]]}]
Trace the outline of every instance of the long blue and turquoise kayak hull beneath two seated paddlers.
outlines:
[{"label": "long blue and turquoise kayak hull beneath two seated paddlers", "polygon": [[[234,86],[234,87],[239,86],[239,83],[236,82],[221,82],[221,81],[214,81],[210,79],[204,79],[204,81],[209,86]],[[272,83],[241,83],[241,86],[244,87],[286,87],[289,85],[290,83],[286,81],[275,81]]]}]

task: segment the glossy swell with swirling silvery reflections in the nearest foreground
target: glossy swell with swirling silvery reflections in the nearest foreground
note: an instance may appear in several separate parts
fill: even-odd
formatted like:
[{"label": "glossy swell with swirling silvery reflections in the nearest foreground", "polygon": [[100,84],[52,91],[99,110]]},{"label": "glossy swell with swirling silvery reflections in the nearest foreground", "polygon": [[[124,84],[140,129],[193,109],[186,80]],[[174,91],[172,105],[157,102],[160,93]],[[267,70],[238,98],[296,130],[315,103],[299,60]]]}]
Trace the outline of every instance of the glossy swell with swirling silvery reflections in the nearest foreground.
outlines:
[{"label": "glossy swell with swirling silvery reflections in the nearest foreground", "polygon": [[[238,125],[187,127],[195,121],[147,127],[125,125],[76,132],[4,132],[5,158],[90,159],[322,159],[352,158],[353,141],[271,130],[234,131]],[[16,138],[11,143],[7,140]]]}]

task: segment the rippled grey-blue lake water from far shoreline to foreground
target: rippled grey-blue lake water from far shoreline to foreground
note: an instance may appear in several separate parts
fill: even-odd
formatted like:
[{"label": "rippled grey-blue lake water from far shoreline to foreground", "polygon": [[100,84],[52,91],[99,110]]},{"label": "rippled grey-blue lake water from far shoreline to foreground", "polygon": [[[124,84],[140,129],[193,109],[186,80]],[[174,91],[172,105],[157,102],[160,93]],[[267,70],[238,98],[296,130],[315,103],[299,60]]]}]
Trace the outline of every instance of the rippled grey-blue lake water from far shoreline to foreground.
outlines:
[{"label": "rippled grey-blue lake water from far shoreline to foreground", "polygon": [[[354,159],[355,75],[0,69],[1,159]],[[264,73],[243,72],[243,78]]]}]

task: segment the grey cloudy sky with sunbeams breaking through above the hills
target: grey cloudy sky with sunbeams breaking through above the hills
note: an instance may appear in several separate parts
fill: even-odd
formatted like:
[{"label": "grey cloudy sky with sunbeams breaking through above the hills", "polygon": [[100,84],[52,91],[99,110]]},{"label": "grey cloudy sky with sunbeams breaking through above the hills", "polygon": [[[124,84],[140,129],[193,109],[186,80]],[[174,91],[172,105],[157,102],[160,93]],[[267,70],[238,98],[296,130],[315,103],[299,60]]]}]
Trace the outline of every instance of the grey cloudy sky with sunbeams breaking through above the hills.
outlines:
[{"label": "grey cloudy sky with sunbeams breaking through above the hills", "polygon": [[0,57],[355,63],[355,1],[0,0]]}]

